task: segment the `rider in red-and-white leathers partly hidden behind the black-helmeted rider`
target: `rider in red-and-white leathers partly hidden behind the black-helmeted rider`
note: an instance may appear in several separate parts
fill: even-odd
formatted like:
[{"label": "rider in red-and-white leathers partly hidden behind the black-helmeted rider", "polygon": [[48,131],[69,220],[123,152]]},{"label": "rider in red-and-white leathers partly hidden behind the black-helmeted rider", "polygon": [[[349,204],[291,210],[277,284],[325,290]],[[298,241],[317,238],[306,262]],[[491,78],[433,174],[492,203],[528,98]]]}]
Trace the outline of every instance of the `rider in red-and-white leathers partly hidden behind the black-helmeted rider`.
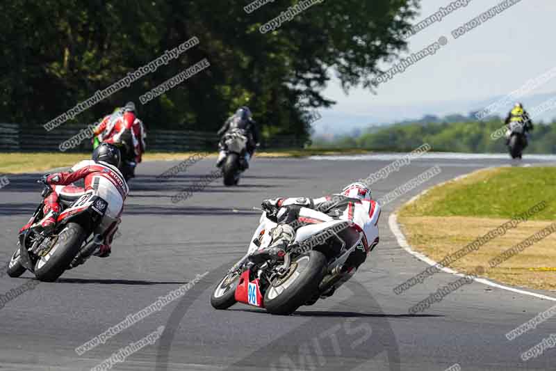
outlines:
[{"label": "rider in red-and-white leathers partly hidden behind the black-helmeted rider", "polygon": [[95,136],[100,142],[123,144],[125,153],[122,159],[133,159],[136,163],[142,161],[145,153],[145,127],[136,116],[136,107],[133,102],[127,102],[123,108],[117,108],[95,128]]}]

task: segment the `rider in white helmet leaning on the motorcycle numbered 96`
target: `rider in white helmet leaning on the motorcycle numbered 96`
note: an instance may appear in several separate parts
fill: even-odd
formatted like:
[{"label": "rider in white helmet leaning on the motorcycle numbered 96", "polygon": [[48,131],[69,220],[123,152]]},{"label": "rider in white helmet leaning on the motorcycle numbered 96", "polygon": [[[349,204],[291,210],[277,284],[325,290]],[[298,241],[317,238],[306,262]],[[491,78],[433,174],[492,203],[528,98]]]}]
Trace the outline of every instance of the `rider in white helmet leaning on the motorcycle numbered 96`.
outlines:
[{"label": "rider in white helmet leaning on the motorcycle numbered 96", "polygon": [[329,280],[338,280],[322,297],[331,296],[348,281],[368,253],[379,243],[378,221],[381,207],[373,200],[370,189],[361,182],[347,185],[341,194],[321,198],[276,198],[261,204],[270,220],[278,223],[271,232],[272,242],[250,255],[252,262],[280,260],[286,247],[295,239],[297,228],[321,221],[345,220],[363,232],[360,246],[351,253],[345,264],[332,272]]}]

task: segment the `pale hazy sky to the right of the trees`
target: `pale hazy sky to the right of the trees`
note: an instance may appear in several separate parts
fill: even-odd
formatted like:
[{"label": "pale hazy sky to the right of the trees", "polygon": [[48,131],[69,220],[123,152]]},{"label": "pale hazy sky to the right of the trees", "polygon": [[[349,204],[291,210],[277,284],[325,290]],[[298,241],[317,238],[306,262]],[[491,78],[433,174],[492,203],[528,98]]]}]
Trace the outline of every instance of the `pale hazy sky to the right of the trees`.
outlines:
[{"label": "pale hazy sky to the right of the trees", "polygon": [[[413,23],[452,1],[421,1],[420,15]],[[555,68],[554,0],[521,0],[472,31],[453,38],[452,30],[500,1],[470,0],[467,6],[446,15],[441,22],[411,36],[409,52],[402,53],[402,57],[423,49],[441,36],[448,39],[448,44],[379,85],[376,95],[363,88],[352,88],[345,95],[338,80],[332,79],[322,93],[337,104],[332,109],[320,109],[322,119],[313,127],[320,131],[346,124],[365,126],[420,118],[426,113],[468,113]],[[380,66],[388,69],[391,65]],[[530,95],[552,92],[556,92],[556,78]],[[527,104],[528,96],[521,100]]]}]

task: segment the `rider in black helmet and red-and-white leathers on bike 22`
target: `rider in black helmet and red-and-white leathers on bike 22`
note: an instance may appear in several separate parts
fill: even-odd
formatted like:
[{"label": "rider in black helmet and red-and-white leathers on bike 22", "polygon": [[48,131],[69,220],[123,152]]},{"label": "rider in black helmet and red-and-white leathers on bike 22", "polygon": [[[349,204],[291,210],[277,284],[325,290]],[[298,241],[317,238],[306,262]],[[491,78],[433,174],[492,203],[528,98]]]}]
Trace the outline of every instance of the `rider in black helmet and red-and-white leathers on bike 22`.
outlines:
[{"label": "rider in black helmet and red-and-white leathers on bike 22", "polygon": [[[42,182],[51,186],[52,193],[44,198],[44,218],[30,228],[38,232],[51,232],[60,214],[59,198],[75,201],[91,192],[108,203],[104,219],[95,230],[95,234],[102,237],[96,255],[101,258],[110,255],[112,239],[121,222],[120,215],[129,192],[124,176],[118,169],[120,157],[120,150],[115,145],[101,143],[92,152],[92,160],[80,161],[67,172],[44,175]],[[80,179],[85,180],[85,188],[72,184]]]}]

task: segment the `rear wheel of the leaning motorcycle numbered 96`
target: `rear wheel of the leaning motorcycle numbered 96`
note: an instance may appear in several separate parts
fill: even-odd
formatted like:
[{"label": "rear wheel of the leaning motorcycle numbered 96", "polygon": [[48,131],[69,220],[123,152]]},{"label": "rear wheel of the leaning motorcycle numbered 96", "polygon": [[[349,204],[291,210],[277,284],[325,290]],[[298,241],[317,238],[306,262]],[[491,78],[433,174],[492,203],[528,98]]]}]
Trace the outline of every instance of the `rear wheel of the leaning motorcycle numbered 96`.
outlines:
[{"label": "rear wheel of the leaning motorcycle numbered 96", "polygon": [[274,315],[291,315],[318,292],[325,273],[326,258],[319,251],[309,251],[292,260],[283,278],[276,278],[265,292],[265,308]]}]

